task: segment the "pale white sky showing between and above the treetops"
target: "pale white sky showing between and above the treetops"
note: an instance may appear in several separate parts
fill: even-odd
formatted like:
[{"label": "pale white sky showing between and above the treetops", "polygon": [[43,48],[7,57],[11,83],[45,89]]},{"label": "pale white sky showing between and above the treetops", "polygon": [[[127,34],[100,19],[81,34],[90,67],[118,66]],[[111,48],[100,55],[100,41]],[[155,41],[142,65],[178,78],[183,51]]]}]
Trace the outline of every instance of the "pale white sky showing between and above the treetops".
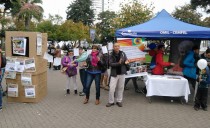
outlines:
[{"label": "pale white sky showing between and above the treetops", "polygon": [[[72,3],[73,0],[42,0],[42,7],[44,9],[44,18],[48,18],[49,14],[55,15],[59,14],[66,19],[66,9]],[[120,3],[126,3],[128,0],[116,0],[116,11],[120,10]],[[190,0],[142,0],[145,4],[153,3],[155,9],[154,14],[165,9],[169,13],[173,12],[175,7],[189,4]]]}]

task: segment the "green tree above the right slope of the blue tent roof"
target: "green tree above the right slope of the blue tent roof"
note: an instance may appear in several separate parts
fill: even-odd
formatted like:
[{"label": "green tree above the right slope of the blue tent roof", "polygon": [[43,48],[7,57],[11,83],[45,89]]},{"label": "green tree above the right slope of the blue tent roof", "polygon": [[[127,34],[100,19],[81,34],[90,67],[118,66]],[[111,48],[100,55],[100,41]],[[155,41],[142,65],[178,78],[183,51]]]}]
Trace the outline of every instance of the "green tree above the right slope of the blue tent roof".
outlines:
[{"label": "green tree above the right slope of the blue tent roof", "polygon": [[190,24],[203,25],[201,21],[202,14],[192,9],[192,6],[186,4],[184,6],[176,7],[172,13],[173,17],[183,22]]}]

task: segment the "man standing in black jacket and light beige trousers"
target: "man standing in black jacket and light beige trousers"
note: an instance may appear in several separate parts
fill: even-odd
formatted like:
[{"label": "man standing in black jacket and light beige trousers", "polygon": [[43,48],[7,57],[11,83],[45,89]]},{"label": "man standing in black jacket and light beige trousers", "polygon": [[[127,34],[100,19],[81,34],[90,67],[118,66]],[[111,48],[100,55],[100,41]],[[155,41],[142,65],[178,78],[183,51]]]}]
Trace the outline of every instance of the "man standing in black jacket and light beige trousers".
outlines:
[{"label": "man standing in black jacket and light beige trousers", "polygon": [[[116,98],[116,104],[122,107],[126,64],[128,64],[127,57],[123,51],[120,51],[119,43],[114,44],[114,50],[109,57],[109,65],[111,67],[110,73],[110,88],[109,88],[109,102],[106,107],[114,105],[114,99]],[[115,97],[114,97],[115,96]]]}]

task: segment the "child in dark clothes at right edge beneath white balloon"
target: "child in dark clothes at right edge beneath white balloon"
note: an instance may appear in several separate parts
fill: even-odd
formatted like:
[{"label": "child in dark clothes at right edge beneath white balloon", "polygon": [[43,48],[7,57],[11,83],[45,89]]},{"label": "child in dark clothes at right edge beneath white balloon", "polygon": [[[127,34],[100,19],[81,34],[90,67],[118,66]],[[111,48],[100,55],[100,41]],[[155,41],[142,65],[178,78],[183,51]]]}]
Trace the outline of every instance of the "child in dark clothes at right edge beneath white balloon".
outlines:
[{"label": "child in dark clothes at right edge beneath white balloon", "polygon": [[194,109],[199,110],[200,107],[204,111],[207,111],[207,100],[208,100],[208,87],[210,84],[210,72],[208,66],[201,70],[201,75],[199,76],[198,90],[195,98]]}]

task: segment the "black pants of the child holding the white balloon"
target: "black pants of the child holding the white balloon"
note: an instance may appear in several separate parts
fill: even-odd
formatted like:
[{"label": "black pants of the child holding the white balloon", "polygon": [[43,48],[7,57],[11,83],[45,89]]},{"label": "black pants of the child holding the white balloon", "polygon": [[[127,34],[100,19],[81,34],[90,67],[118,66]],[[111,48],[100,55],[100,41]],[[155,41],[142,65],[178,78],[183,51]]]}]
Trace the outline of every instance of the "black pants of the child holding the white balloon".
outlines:
[{"label": "black pants of the child holding the white balloon", "polygon": [[208,88],[198,88],[198,91],[195,97],[194,107],[207,108],[207,100],[208,100]]}]

